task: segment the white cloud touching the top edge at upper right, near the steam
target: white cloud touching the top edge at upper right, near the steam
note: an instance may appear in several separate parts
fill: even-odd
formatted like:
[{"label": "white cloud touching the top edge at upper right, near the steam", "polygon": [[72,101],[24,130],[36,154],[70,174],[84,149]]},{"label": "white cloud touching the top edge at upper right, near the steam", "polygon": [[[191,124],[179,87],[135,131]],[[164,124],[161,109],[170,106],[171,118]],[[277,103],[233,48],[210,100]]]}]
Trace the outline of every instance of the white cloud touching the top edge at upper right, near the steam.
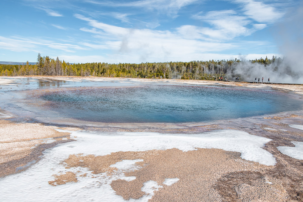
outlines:
[{"label": "white cloud touching the top edge at upper right, near the steam", "polygon": [[235,0],[235,2],[241,3],[244,14],[257,22],[272,24],[284,15],[277,8],[259,1]]}]

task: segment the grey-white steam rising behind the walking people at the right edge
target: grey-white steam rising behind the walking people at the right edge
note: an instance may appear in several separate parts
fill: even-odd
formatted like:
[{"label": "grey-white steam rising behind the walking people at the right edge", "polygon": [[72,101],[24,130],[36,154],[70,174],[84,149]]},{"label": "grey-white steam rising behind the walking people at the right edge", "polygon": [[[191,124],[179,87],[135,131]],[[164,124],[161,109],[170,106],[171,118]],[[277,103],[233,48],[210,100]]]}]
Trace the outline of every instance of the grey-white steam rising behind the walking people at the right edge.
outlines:
[{"label": "grey-white steam rising behind the walking people at the right edge", "polygon": [[[234,67],[233,75],[241,75],[243,80],[254,81],[255,77],[270,78],[277,83],[303,83],[303,4],[295,11],[286,14],[284,22],[279,24],[279,32],[275,36],[283,59],[276,59],[264,66],[241,59]],[[268,56],[271,59],[272,56]]]}]

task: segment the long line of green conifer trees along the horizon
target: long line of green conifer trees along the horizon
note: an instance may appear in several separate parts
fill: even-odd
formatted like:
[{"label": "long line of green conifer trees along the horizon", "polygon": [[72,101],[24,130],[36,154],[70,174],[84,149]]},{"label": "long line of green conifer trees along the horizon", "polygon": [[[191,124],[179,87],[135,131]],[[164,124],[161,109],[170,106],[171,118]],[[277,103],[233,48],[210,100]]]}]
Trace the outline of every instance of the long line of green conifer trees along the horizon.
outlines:
[{"label": "long line of green conifer trees along the horizon", "polygon": [[[281,58],[249,60],[251,63],[269,65]],[[35,65],[0,64],[0,76],[106,76],[128,78],[166,78],[215,80],[226,74],[234,76],[233,71],[241,63],[240,59],[209,60],[191,62],[146,62],[117,63],[91,62],[70,64],[57,57],[42,57],[40,53]]]}]

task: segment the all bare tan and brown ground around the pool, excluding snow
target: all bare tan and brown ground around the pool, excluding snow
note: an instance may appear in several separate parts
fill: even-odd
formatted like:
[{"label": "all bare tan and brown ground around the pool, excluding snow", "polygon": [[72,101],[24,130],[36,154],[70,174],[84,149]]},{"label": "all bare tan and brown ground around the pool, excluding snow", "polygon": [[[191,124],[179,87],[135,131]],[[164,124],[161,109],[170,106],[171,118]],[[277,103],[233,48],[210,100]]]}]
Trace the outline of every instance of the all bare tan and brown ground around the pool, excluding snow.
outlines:
[{"label": "all bare tan and brown ground around the pool, excluding snow", "polygon": [[[19,77],[16,77],[19,78]],[[238,82],[179,80],[179,79],[125,79],[104,77],[39,77],[44,79],[61,79],[81,81],[135,80],[141,82],[173,82],[203,85],[227,85],[244,87],[274,87],[303,94],[303,86],[278,84],[251,84]],[[8,84],[0,79],[0,84]],[[1,115],[2,114],[2,115]],[[279,113],[275,115],[250,117],[211,123],[187,124],[120,124],[93,125],[85,123],[86,130],[95,131],[131,131],[160,133],[201,133],[210,130],[235,129],[252,135],[272,139],[264,149],[272,153],[277,161],[275,166],[264,166],[259,163],[243,160],[237,152],[219,149],[198,149],[182,152],[178,149],[151,150],[145,152],[118,152],[106,156],[70,155],[64,162],[66,173],[54,175],[55,180],[49,186],[65,183],[77,183],[71,167],[86,167],[92,173],[114,175],[109,167],[122,159],[143,159],[138,162],[141,167],[135,171],[125,171],[125,176],[135,176],[132,181],[114,180],[111,184],[116,194],[125,200],[142,197],[143,183],[154,180],[159,188],[150,201],[303,201],[303,160],[297,160],[280,153],[277,146],[294,146],[291,141],[303,141],[303,131],[294,129],[288,124],[303,125],[303,111]],[[35,163],[45,149],[58,143],[73,141],[69,133],[57,132],[57,126],[45,126],[39,123],[20,123],[8,121],[9,112],[1,111],[0,115],[0,177],[15,172],[22,172],[29,163]],[[9,116],[8,116],[9,115]],[[5,120],[7,119],[7,120]],[[75,122],[74,122],[75,123]],[[81,126],[81,125],[78,125]],[[83,125],[84,126],[84,125]],[[79,130],[79,128],[63,128]],[[275,130],[272,130],[275,129]],[[18,168],[22,169],[18,169]],[[85,177],[85,174],[83,175]],[[167,186],[166,178],[178,178],[179,181]],[[47,183],[47,182],[46,182]]]}]

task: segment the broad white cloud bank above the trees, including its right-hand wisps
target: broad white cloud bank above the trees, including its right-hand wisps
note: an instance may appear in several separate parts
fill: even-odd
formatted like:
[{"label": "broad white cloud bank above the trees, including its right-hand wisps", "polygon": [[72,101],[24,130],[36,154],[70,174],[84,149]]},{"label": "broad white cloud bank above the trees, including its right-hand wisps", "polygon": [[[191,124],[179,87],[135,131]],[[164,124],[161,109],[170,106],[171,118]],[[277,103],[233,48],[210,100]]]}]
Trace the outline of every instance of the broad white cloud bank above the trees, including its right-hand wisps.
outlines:
[{"label": "broad white cloud bank above the trees, including its right-hand wisps", "polygon": [[[209,59],[210,56],[216,56],[218,59],[230,59],[229,56],[239,55],[224,55],[219,52],[249,49],[264,44],[259,41],[230,42],[231,39],[239,35],[248,35],[254,30],[266,26],[265,24],[253,24],[246,17],[241,17],[231,10],[217,12],[217,15],[207,12],[205,15],[200,13],[200,17],[196,16],[197,19],[208,21],[216,29],[183,25],[176,28],[175,31],[122,28],[83,15],[75,14],[74,16],[86,21],[92,27],[80,30],[91,32],[97,38],[95,42],[81,45],[92,49],[105,49],[106,47],[109,54],[102,57],[105,57],[107,62],[188,61],[189,58],[201,60]],[[249,24],[252,27],[250,29],[245,27]],[[82,59],[85,60],[85,57]]]}]

